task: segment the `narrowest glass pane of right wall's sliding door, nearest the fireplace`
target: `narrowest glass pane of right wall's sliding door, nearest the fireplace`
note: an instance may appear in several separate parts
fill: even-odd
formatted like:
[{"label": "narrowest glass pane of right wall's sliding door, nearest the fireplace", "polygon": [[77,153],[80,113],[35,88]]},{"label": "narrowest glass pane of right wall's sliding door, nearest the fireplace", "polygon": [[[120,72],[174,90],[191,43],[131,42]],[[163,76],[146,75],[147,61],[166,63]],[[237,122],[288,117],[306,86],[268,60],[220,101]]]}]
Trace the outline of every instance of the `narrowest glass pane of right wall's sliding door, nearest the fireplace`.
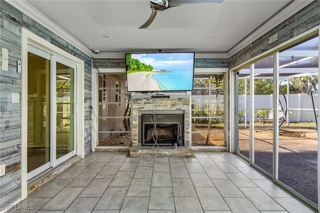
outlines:
[{"label": "narrowest glass pane of right wall's sliding door, nearest the fireplace", "polygon": [[250,157],[250,129],[249,129],[249,107],[250,107],[250,67],[238,71],[236,84],[236,100],[238,118],[236,122],[237,140],[236,151],[247,158]]}]

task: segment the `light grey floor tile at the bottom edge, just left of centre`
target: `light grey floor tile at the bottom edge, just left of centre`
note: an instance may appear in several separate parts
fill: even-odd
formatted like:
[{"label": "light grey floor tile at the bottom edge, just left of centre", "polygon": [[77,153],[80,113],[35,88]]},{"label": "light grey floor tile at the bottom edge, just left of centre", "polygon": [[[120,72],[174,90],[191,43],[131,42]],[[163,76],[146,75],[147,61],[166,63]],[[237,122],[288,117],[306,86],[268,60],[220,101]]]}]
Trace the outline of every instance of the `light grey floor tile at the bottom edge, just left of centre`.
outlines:
[{"label": "light grey floor tile at the bottom edge, just left of centre", "polygon": [[147,213],[149,197],[125,197],[120,213]]}]

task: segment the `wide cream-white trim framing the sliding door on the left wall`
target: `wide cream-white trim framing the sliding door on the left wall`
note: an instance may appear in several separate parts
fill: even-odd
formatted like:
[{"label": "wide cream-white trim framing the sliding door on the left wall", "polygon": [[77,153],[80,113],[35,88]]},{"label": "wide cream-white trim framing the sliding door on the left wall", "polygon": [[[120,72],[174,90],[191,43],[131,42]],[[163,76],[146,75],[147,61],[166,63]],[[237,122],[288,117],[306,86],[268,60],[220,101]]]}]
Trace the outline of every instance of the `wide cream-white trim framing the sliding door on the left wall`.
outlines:
[{"label": "wide cream-white trim framing the sliding door on the left wall", "polygon": [[27,52],[32,44],[76,64],[76,155],[84,157],[84,61],[21,27],[21,199],[27,197]]}]

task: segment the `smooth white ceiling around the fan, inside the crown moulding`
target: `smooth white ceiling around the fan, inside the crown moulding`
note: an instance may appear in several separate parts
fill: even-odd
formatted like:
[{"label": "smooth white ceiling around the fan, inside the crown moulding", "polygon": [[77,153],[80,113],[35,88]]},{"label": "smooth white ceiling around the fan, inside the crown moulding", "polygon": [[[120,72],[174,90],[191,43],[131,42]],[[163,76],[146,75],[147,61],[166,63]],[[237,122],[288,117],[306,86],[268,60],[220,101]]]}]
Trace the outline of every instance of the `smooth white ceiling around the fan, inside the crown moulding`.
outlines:
[{"label": "smooth white ceiling around the fan, inside the crown moulding", "polygon": [[158,12],[146,29],[138,27],[151,13],[149,0],[25,2],[84,46],[103,54],[158,49],[227,53],[294,1],[224,0],[177,6]]}]

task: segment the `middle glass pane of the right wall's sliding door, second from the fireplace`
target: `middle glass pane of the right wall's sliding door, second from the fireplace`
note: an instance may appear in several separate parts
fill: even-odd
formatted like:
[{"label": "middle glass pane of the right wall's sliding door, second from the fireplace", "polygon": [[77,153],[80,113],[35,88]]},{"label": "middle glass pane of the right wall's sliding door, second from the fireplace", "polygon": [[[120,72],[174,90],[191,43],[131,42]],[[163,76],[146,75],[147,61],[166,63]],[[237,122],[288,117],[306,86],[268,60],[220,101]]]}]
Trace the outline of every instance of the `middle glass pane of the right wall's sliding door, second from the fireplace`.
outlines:
[{"label": "middle glass pane of the right wall's sliding door, second from the fireplace", "polygon": [[273,56],[254,63],[254,164],[272,174]]}]

